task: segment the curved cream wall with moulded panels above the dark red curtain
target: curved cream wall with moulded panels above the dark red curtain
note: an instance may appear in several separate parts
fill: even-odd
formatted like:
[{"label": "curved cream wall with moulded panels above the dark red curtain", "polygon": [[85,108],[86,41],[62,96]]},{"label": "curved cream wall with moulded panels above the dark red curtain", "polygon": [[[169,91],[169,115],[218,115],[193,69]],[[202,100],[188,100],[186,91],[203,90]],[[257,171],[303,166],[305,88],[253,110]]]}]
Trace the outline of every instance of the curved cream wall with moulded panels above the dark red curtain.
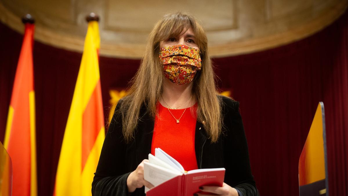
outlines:
[{"label": "curved cream wall with moulded panels above the dark red curtain", "polygon": [[36,22],[35,39],[82,51],[85,16],[100,15],[101,55],[141,58],[148,33],[168,12],[191,12],[206,28],[212,56],[277,47],[309,36],[337,19],[348,0],[2,0],[0,20],[23,32],[21,16]]}]

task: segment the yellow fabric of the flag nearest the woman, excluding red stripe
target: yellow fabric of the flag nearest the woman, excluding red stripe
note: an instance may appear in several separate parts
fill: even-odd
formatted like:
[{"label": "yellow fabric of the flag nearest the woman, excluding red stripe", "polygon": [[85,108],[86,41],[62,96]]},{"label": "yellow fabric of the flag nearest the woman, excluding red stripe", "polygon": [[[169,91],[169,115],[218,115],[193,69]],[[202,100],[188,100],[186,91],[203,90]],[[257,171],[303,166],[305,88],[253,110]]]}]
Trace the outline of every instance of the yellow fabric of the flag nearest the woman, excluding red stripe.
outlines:
[{"label": "yellow fabric of the flag nearest the woman, excluding red stripe", "polygon": [[[82,115],[97,82],[100,80],[97,54],[99,46],[98,23],[91,21],[88,23],[84,52],[58,162],[55,184],[56,196],[91,195],[93,173],[96,170],[103,144],[101,141],[104,141],[105,132],[104,128],[100,130],[85,169],[81,173]],[[87,186],[88,183],[90,184]]]}]

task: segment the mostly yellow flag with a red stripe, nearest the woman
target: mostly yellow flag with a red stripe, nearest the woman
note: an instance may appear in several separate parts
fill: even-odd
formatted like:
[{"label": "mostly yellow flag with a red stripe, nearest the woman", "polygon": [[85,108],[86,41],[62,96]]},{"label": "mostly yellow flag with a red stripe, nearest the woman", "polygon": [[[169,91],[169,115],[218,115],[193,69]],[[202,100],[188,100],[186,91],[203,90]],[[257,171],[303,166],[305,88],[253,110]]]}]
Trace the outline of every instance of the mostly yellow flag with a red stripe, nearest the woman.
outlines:
[{"label": "mostly yellow flag with a red stripe, nearest the woman", "polygon": [[92,181],[105,138],[100,85],[98,22],[88,22],[84,52],[58,162],[55,196],[92,195]]}]

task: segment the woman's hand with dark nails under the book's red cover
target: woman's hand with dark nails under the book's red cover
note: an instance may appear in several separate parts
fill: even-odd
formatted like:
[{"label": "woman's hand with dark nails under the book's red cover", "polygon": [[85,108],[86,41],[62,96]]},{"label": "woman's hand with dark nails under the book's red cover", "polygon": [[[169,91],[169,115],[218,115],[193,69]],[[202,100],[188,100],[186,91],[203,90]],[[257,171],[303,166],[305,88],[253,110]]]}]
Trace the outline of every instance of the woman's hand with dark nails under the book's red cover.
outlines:
[{"label": "woman's hand with dark nails under the book's red cover", "polygon": [[[237,190],[235,188],[228,186],[228,184],[226,183],[223,183],[222,187],[202,186],[202,187],[199,187],[199,189],[206,193],[213,193],[214,195],[238,196]],[[207,194],[200,194],[200,193],[195,193],[194,195],[208,196]]]}]

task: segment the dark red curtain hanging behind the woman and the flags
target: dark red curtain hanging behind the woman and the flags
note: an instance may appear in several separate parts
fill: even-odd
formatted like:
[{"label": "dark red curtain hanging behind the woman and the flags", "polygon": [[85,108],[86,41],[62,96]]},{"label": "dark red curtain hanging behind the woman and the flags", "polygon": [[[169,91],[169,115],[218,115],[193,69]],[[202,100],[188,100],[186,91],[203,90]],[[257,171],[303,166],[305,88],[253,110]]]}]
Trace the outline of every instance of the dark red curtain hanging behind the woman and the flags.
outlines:
[{"label": "dark red curtain hanging behind the woman and the flags", "polygon": [[[0,23],[0,141],[22,35]],[[213,59],[219,88],[240,102],[252,171],[263,196],[298,195],[298,160],[324,102],[330,195],[348,195],[348,13],[313,36],[275,49]],[[38,193],[52,195],[81,54],[34,44]],[[139,60],[100,58],[105,116]],[[237,160],[236,160],[237,161]],[[238,169],[238,168],[236,168]]]}]

